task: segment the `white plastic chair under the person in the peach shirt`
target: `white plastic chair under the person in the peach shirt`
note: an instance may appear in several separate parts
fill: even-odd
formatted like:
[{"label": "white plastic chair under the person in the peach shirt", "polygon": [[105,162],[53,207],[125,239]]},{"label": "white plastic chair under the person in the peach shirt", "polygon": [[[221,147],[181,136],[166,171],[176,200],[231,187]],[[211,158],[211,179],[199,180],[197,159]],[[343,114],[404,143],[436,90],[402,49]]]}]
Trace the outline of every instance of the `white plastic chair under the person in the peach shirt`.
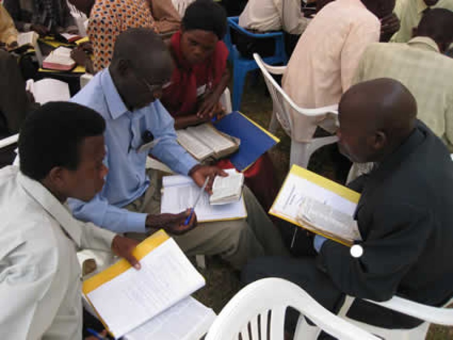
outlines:
[{"label": "white plastic chair under the person in the peach shirt", "polygon": [[[283,75],[286,66],[271,66],[264,63],[263,59],[256,53],[253,54],[256,63],[261,69],[266,82],[267,89],[272,97],[273,113],[268,130],[275,133],[280,122],[283,130],[291,138],[291,151],[289,157],[289,167],[297,164],[306,168],[312,153],[327,144],[336,143],[337,136],[313,138],[309,142],[302,143],[293,139],[293,126],[291,119],[291,109],[298,113],[310,117],[324,116],[326,113],[338,115],[338,105],[326,106],[318,109],[303,109],[297,106],[291,98],[284,93],[280,85],[275,81],[270,73]],[[336,119],[336,118],[335,118]]]}]

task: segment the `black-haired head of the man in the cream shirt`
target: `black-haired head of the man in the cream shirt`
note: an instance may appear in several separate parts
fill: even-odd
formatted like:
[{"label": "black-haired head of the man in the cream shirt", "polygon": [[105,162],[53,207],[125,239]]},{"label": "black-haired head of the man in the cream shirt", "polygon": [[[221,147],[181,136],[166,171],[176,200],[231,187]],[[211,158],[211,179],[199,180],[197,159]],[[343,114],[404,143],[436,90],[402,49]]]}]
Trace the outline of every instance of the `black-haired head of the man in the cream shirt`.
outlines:
[{"label": "black-haired head of the man in the cream shirt", "polygon": [[47,103],[29,114],[20,130],[20,171],[57,198],[90,200],[107,174],[104,131],[104,119],[90,108]]}]

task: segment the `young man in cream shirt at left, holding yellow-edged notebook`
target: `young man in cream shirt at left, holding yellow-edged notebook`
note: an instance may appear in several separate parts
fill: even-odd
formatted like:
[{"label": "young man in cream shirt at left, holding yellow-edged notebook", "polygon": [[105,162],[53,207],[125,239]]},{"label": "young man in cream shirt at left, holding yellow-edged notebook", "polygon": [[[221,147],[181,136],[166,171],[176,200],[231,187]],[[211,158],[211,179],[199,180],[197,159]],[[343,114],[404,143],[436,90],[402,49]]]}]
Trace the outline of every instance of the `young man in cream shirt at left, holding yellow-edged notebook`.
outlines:
[{"label": "young man in cream shirt at left, holding yellow-edged notebook", "polygon": [[0,339],[82,339],[78,249],[113,250],[140,267],[136,241],[75,220],[65,205],[102,188],[104,130],[91,109],[46,104],[22,126],[20,170],[0,170]]}]

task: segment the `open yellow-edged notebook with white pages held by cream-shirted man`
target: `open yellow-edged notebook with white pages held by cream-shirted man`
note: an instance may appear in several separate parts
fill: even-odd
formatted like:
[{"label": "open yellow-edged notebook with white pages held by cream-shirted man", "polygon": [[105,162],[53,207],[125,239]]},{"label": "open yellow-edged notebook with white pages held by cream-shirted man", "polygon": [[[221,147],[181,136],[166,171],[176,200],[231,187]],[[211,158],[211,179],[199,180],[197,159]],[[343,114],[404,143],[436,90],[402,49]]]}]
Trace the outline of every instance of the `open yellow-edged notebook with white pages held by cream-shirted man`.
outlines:
[{"label": "open yellow-edged notebook with white pages held by cream-shirted man", "polygon": [[115,339],[199,339],[180,335],[203,335],[215,317],[190,298],[205,279],[163,230],[140,243],[133,255],[140,270],[121,259],[83,282],[83,294],[106,329]]}]

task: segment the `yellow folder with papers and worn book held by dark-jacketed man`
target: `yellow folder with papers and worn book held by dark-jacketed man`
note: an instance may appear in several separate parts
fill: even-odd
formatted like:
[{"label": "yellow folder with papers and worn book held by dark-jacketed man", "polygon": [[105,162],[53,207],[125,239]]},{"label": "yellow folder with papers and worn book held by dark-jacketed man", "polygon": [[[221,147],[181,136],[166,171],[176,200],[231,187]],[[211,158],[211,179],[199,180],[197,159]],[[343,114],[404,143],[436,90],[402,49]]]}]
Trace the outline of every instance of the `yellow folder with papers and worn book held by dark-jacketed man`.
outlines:
[{"label": "yellow folder with papers and worn book held by dark-jacketed man", "polygon": [[361,240],[353,215],[360,194],[293,165],[269,213],[346,246]]}]

